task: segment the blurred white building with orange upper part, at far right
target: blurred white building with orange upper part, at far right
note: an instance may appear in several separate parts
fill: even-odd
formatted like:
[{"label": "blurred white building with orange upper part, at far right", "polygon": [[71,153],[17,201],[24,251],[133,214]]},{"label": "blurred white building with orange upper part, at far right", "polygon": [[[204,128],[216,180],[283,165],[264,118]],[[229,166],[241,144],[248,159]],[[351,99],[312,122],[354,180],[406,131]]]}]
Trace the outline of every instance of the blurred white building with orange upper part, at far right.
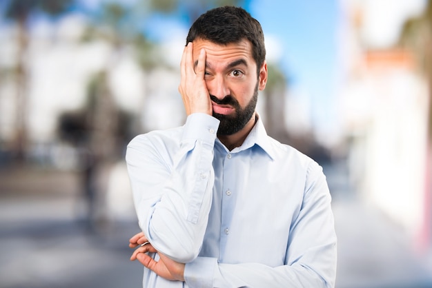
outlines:
[{"label": "blurred white building with orange upper part, at far right", "polygon": [[[414,245],[429,249],[432,203],[427,187],[430,99],[426,77],[415,68],[413,55],[397,48],[397,34],[386,43],[374,41],[380,38],[377,30],[386,31],[382,26],[386,17],[392,17],[393,3],[375,2],[381,3],[382,21],[374,22],[372,1],[341,2],[345,23],[340,102],[351,180],[360,198],[401,225]],[[392,20],[393,29],[411,16],[405,12],[404,17],[398,14],[400,23]]]}]

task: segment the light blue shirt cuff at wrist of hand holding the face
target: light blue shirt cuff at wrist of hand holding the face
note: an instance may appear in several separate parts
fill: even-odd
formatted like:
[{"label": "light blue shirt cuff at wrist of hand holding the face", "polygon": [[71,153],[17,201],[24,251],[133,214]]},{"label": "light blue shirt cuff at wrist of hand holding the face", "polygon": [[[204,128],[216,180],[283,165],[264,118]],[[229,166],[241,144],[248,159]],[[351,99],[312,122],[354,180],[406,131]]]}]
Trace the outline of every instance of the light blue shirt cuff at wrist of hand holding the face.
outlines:
[{"label": "light blue shirt cuff at wrist of hand holding the face", "polygon": [[182,140],[199,139],[213,145],[220,121],[204,113],[193,113],[186,119]]}]

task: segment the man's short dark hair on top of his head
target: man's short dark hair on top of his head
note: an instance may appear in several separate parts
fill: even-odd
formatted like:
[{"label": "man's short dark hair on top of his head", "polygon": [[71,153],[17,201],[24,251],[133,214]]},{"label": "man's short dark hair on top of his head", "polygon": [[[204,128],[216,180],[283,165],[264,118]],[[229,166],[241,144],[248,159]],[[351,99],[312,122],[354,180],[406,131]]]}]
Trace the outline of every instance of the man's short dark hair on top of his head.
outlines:
[{"label": "man's short dark hair on top of his head", "polygon": [[266,59],[266,46],[261,24],[243,8],[224,6],[208,10],[190,27],[186,45],[195,39],[208,40],[222,45],[247,39],[252,44],[252,56],[257,64],[258,72]]}]

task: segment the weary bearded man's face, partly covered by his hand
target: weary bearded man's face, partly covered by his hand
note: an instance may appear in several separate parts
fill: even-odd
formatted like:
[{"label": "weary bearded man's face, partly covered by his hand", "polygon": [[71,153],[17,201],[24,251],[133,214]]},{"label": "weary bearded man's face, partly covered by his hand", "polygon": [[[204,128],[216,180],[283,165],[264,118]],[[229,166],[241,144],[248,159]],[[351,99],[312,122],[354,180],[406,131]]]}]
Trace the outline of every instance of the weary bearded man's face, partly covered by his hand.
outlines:
[{"label": "weary bearded man's face, partly covered by his hand", "polygon": [[[213,116],[219,119],[217,134],[231,135],[242,130],[255,113],[258,90],[266,83],[266,65],[257,75],[251,43],[247,40],[219,45],[197,39],[193,43],[194,59],[206,50],[206,81],[213,107]],[[195,62],[196,64],[196,62]],[[264,69],[265,68],[265,69]]]}]

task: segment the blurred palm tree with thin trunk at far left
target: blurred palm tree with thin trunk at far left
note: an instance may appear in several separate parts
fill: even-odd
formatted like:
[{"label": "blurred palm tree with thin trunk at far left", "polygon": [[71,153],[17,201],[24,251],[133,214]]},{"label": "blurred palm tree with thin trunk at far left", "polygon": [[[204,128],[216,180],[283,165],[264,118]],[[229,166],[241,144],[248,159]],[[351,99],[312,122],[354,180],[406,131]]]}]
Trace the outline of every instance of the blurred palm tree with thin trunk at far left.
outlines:
[{"label": "blurred palm tree with thin trunk at far left", "polygon": [[69,11],[74,0],[9,0],[4,10],[5,19],[17,24],[17,64],[14,68],[16,83],[16,120],[12,149],[14,158],[22,163],[26,154],[27,139],[27,83],[26,52],[28,51],[28,38],[30,19],[37,15],[56,18]]}]

